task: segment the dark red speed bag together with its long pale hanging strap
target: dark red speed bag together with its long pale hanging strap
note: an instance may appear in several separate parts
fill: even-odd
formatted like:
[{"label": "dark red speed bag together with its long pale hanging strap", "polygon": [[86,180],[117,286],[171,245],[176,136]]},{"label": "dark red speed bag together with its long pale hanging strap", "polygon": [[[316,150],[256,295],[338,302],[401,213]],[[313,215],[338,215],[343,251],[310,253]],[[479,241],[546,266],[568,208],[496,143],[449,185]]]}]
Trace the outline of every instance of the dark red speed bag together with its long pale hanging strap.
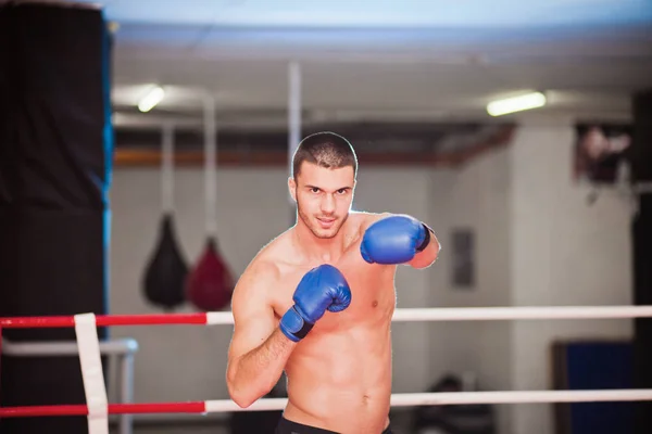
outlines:
[{"label": "dark red speed bag together with its long pale hanging strap", "polygon": [[215,102],[204,101],[204,181],[208,238],[204,251],[188,276],[188,299],[200,310],[221,310],[230,303],[235,288],[228,265],[217,245],[216,228],[216,128]]}]

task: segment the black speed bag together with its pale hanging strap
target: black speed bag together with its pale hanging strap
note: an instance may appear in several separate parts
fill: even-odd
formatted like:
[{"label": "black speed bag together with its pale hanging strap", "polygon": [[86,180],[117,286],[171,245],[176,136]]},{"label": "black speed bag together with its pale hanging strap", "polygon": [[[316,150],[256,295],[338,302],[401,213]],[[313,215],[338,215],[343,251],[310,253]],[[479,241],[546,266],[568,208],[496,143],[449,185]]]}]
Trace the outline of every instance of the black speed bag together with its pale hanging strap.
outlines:
[{"label": "black speed bag together with its pale hanging strap", "polygon": [[184,285],[188,275],[188,266],[174,230],[174,129],[172,125],[163,127],[162,148],[161,202],[163,215],[159,222],[156,245],[145,270],[142,289],[148,302],[170,311],[186,301]]}]

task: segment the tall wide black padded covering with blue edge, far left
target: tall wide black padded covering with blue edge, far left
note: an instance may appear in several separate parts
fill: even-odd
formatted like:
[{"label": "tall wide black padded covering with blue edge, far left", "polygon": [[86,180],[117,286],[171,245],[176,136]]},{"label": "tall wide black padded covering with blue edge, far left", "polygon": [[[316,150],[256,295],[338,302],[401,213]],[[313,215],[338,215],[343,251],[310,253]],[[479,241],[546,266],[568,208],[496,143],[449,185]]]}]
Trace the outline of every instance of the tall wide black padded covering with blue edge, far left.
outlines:
[{"label": "tall wide black padded covering with blue edge, far left", "polygon": [[[97,8],[0,5],[0,316],[106,312],[110,51]],[[75,340],[72,328],[2,335]],[[76,356],[0,366],[3,407],[86,403]],[[87,432],[86,417],[0,420],[2,434]]]}]

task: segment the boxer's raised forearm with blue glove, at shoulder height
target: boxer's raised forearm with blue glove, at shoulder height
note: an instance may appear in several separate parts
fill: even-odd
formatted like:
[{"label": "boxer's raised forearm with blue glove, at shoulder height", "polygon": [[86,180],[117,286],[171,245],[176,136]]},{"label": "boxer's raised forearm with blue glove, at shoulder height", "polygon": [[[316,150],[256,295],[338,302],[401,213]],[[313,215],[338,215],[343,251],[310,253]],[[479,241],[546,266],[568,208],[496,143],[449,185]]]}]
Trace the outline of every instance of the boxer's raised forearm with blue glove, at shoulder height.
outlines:
[{"label": "boxer's raised forearm with blue glove, at shoulder height", "polygon": [[360,253],[369,264],[408,264],[426,268],[441,248],[434,231],[423,221],[404,214],[369,217]]}]

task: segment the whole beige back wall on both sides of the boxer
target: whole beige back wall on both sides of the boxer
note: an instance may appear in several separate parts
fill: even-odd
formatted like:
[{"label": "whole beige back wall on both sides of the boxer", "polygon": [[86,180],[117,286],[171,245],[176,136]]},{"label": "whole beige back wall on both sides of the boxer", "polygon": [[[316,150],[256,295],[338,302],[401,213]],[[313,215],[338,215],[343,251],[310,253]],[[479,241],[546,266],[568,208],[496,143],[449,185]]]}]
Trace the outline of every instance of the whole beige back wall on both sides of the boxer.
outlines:
[{"label": "whole beige back wall on both sides of the boxer", "polygon": [[[507,149],[459,169],[362,168],[355,207],[408,213],[426,220],[442,243],[428,270],[401,267],[399,307],[630,304],[630,208],[606,194],[589,207],[588,189],[572,180],[568,124],[526,125]],[[177,229],[196,260],[204,243],[201,170],[177,169]],[[236,273],[290,225],[281,169],[220,169],[221,248]],[[159,171],[116,168],[111,311],[153,312],[140,279],[156,238]],[[450,231],[476,232],[477,284],[451,285]],[[190,310],[186,307],[185,310]],[[551,387],[555,339],[629,336],[630,321],[486,321],[394,323],[394,392],[421,392],[446,372],[477,374],[481,390]],[[227,397],[230,330],[225,327],[115,328],[140,344],[136,399]],[[500,406],[501,434],[552,433],[548,405]]]}]

